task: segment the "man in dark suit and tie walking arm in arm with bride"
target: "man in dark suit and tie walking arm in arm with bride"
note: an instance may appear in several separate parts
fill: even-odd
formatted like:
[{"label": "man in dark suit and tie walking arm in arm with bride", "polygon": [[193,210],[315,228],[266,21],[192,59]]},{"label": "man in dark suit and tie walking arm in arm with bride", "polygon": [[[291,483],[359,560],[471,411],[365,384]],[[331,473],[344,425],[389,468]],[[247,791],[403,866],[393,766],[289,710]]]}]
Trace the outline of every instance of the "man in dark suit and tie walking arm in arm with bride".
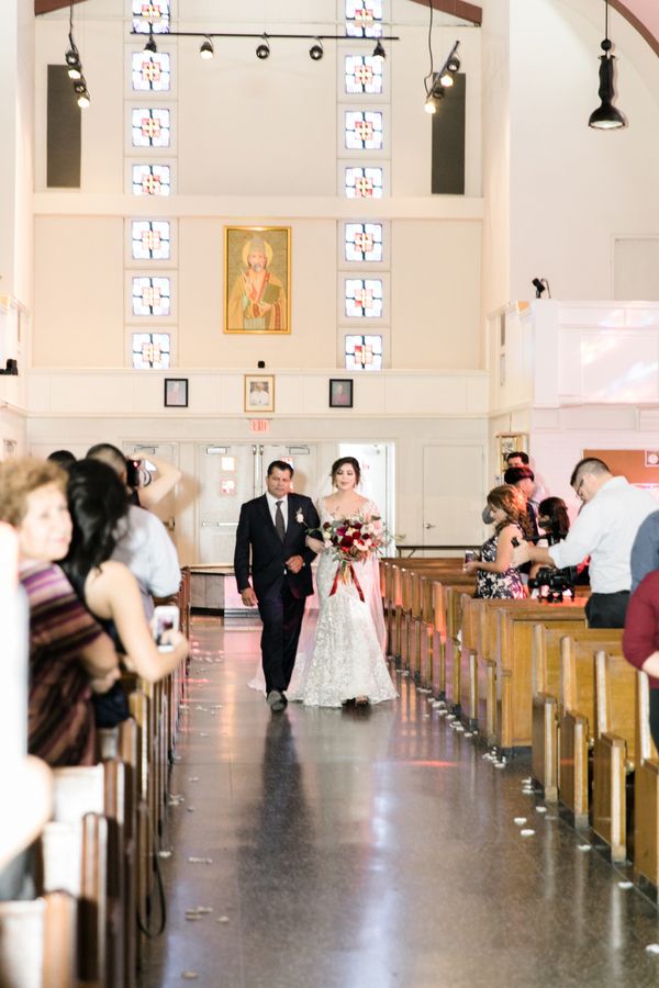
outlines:
[{"label": "man in dark suit and tie walking arm in arm with bride", "polygon": [[313,593],[310,565],[315,552],[306,546],[306,530],[320,525],[311,498],[291,493],[292,480],[289,463],[270,463],[266,493],[241,508],[234,553],[243,604],[258,605],[264,626],[266,697],[273,712],[287,705],[284,691],[295,663],[304,605]]}]

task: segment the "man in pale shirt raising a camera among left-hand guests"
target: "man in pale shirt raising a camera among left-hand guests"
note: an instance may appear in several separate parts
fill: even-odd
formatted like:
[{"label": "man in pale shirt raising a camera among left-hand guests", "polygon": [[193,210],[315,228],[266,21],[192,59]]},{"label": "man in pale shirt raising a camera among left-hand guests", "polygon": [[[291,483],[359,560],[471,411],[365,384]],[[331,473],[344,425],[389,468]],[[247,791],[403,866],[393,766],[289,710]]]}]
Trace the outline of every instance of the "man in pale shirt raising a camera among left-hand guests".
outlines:
[{"label": "man in pale shirt raising a camera among left-hand guests", "polygon": [[[109,442],[92,446],[87,457],[111,467],[125,486],[126,460],[115,446]],[[150,512],[130,505],[127,527],[112,558],[125,563],[136,577],[147,618],[154,611],[152,596],[169,597],[178,592],[181,571],[175,544],[160,519]]]}]

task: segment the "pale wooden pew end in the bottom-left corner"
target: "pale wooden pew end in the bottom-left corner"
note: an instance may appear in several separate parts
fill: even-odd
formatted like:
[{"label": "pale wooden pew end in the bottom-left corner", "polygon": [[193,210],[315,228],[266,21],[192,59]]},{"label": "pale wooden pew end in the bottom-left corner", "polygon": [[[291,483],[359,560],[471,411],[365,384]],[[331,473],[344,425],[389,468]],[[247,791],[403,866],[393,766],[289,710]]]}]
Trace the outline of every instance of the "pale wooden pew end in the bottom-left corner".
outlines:
[{"label": "pale wooden pew end in the bottom-left corner", "polygon": [[0,902],[2,988],[71,988],[78,983],[78,903],[64,891]]}]

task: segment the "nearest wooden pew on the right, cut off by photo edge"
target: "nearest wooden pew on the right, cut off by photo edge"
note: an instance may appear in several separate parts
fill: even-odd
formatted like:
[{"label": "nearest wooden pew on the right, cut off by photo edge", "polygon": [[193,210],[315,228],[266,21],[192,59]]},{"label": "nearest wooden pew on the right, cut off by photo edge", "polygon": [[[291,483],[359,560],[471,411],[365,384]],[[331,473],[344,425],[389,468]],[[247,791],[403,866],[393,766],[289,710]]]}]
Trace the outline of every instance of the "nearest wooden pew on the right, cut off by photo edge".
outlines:
[{"label": "nearest wooden pew on the right, cut off by photo edge", "polygon": [[636,673],[634,878],[657,899],[659,890],[659,754],[650,734],[648,677]]}]

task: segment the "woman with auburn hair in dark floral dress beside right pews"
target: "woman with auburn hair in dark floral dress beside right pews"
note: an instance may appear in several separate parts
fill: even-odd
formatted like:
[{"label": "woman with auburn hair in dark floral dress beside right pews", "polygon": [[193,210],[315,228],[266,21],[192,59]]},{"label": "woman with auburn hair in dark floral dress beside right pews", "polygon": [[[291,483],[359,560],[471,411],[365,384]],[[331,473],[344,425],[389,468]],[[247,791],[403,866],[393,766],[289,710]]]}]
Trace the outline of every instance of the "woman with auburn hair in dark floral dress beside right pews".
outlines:
[{"label": "woman with auburn hair in dark floral dress beside right pews", "polygon": [[488,510],[494,523],[494,535],[481,548],[480,560],[465,563],[476,574],[477,597],[522,599],[524,584],[513,565],[513,539],[528,538],[528,515],[520,492],[507,484],[488,494]]}]

